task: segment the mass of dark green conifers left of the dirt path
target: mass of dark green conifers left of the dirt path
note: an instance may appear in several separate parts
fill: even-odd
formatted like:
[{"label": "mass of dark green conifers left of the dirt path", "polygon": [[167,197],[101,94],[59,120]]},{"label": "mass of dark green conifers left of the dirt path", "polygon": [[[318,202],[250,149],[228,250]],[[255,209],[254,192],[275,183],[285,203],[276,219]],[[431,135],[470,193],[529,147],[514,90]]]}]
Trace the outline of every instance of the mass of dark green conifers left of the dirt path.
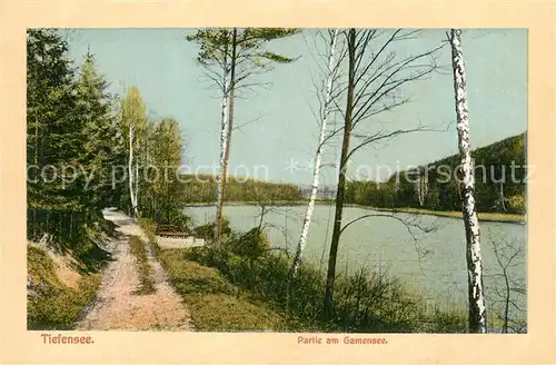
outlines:
[{"label": "mass of dark green conifers left of the dirt path", "polygon": [[77,69],[57,30],[27,36],[27,236],[98,268],[106,255],[91,236],[117,194],[109,167],[121,157],[112,97],[91,55]]}]

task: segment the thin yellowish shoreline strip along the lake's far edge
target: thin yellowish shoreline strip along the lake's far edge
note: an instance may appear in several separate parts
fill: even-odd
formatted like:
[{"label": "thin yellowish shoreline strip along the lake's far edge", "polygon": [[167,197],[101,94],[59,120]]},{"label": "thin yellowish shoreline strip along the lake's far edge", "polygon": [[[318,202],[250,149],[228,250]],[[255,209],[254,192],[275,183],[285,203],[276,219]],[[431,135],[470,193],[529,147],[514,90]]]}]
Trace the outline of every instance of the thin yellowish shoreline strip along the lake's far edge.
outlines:
[{"label": "thin yellowish shoreline strip along the lake's far edge", "polygon": [[[268,206],[302,206],[306,205],[307,200],[278,200],[278,201],[272,201],[271,204],[268,204]],[[317,200],[315,201],[316,205],[331,205],[334,201],[327,201],[327,200]],[[192,203],[188,204],[185,206],[185,208],[188,207],[212,207],[216,205],[216,201],[214,203]],[[225,201],[225,206],[258,206],[258,201]],[[367,209],[367,210],[375,210],[375,211],[393,211],[393,213],[406,213],[406,214],[419,214],[419,215],[428,215],[428,216],[436,216],[436,217],[445,217],[445,218],[454,218],[454,219],[461,219],[461,211],[455,211],[455,210],[430,210],[430,209],[419,209],[419,208],[377,208],[377,207],[370,207],[370,206],[363,206],[358,204],[345,204],[344,207],[348,208],[360,208],[360,209]],[[526,215],[519,215],[519,214],[509,214],[509,213],[478,213],[478,219],[479,221],[496,221],[496,223],[508,223],[508,224],[519,224],[519,225],[526,225],[527,223],[527,216]]]}]

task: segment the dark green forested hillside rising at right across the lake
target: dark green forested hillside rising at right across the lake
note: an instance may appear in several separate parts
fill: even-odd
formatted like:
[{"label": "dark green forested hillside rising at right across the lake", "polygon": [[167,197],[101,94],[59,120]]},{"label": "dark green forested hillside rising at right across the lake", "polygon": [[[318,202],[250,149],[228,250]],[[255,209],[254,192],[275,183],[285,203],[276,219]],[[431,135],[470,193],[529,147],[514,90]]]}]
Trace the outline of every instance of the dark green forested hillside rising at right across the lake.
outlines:
[{"label": "dark green forested hillside rising at right across the lake", "polygon": [[[526,138],[522,134],[476,149],[475,197],[479,211],[525,213]],[[400,171],[386,182],[349,181],[346,201],[383,208],[460,210],[458,156]],[[513,168],[514,166],[514,168]]]}]

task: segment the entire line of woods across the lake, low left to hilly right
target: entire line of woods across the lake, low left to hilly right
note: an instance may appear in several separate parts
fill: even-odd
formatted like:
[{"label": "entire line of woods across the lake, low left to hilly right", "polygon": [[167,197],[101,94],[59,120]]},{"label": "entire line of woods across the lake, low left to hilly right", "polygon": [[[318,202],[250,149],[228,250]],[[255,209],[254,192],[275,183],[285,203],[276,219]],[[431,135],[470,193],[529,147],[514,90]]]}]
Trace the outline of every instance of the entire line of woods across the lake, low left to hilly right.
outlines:
[{"label": "entire line of woods across the lake, low left to hilly right", "polygon": [[[522,134],[474,151],[478,211],[525,213],[525,144],[526,134]],[[349,180],[346,182],[346,203],[377,208],[460,210],[458,164],[459,157],[450,156],[413,170],[393,174],[383,182]],[[449,178],[448,174],[451,174]],[[189,175],[183,176],[182,181],[183,204],[216,201],[216,176]],[[321,200],[327,200],[334,198],[335,191],[321,189],[320,193]],[[268,182],[234,176],[227,181],[227,201],[271,204],[299,201],[306,198],[306,191],[294,184]]]}]

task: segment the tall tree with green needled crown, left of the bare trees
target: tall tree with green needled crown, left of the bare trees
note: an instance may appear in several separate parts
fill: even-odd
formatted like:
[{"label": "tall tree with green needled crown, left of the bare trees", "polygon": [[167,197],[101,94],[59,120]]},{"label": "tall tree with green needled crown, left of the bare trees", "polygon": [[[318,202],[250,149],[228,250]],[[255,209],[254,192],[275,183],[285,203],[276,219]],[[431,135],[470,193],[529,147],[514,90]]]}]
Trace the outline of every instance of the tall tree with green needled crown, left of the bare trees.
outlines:
[{"label": "tall tree with green needled crown, left of the bare trees", "polygon": [[257,82],[247,82],[247,80],[261,71],[271,69],[271,63],[294,61],[292,58],[269,51],[266,43],[296,32],[298,32],[296,29],[282,28],[234,28],[231,30],[211,28],[198,30],[196,34],[187,37],[189,41],[200,46],[197,60],[222,95],[215,240],[220,238],[221,231],[231,132],[235,129],[236,92],[241,88],[257,86]]}]

